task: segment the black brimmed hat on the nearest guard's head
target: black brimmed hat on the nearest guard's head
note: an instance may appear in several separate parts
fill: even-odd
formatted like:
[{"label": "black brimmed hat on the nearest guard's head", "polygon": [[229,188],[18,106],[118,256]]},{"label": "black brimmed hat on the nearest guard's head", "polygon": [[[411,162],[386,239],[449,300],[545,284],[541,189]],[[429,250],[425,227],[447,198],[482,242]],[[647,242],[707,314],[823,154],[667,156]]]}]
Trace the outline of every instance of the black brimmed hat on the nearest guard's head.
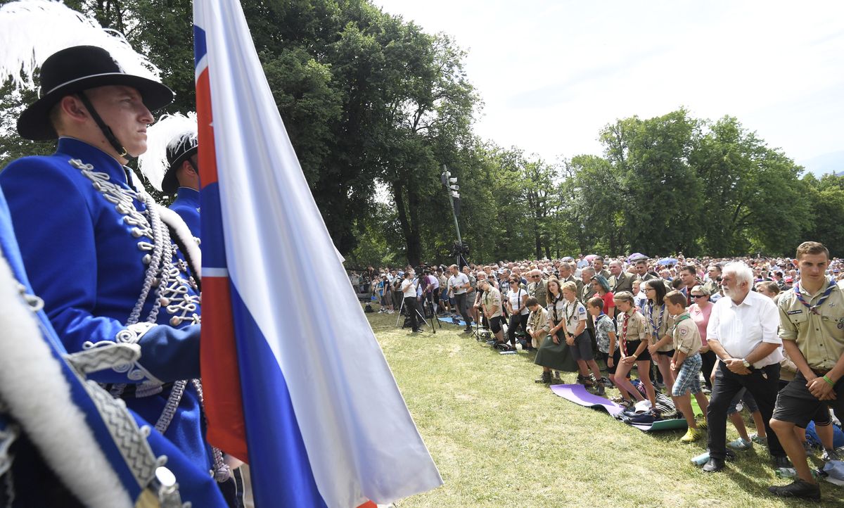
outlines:
[{"label": "black brimmed hat on the nearest guard's head", "polygon": [[49,118],[53,105],[65,95],[106,85],[138,90],[150,111],[173,101],[173,90],[152,79],[127,74],[108,51],[97,46],[73,46],[57,51],[41,65],[43,94],[21,113],[18,133],[26,139],[55,139],[56,130]]}]

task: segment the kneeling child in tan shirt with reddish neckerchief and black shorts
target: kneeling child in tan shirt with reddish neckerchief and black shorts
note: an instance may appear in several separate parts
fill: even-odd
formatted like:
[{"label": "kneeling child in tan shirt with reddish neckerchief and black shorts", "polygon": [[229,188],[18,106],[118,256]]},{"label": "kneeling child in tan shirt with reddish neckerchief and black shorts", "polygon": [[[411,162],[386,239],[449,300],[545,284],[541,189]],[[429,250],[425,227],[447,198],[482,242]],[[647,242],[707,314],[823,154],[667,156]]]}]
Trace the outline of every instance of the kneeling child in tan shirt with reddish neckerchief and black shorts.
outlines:
[{"label": "kneeling child in tan shirt with reddish neckerchief and black shorts", "polygon": [[630,407],[633,402],[630,397],[635,397],[636,400],[645,400],[641,393],[630,383],[627,375],[633,364],[636,364],[636,370],[639,371],[639,380],[645,386],[647,398],[651,401],[651,407],[657,407],[657,393],[651,384],[651,378],[648,372],[651,370],[651,354],[647,352],[647,325],[645,324],[645,316],[636,308],[633,302],[633,295],[627,291],[621,291],[615,295],[615,308],[620,312],[618,322],[616,323],[616,336],[619,341],[619,348],[614,355],[615,376],[613,382],[621,392],[621,399],[616,399],[616,402],[625,407]]}]

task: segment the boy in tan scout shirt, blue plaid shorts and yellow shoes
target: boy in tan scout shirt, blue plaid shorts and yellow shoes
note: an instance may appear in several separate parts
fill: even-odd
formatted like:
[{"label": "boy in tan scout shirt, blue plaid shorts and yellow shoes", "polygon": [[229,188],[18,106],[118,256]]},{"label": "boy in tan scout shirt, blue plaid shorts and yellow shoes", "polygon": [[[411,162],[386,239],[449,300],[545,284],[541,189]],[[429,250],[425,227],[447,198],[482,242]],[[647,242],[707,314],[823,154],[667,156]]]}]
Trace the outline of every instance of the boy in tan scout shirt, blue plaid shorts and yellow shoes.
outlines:
[{"label": "boy in tan scout shirt, blue plaid shorts and yellow shoes", "polygon": [[695,422],[695,411],[691,407],[689,392],[697,399],[701,411],[706,414],[709,405],[701,387],[701,365],[703,360],[699,353],[701,349],[701,333],[697,330],[695,321],[686,311],[688,305],[685,295],[678,290],[665,295],[665,305],[668,314],[674,316],[674,328],[671,336],[674,340],[674,356],[671,358],[671,371],[676,382],[672,386],[671,398],[685,416],[689,430],[680,438],[684,443],[690,443],[701,437],[701,431]]}]

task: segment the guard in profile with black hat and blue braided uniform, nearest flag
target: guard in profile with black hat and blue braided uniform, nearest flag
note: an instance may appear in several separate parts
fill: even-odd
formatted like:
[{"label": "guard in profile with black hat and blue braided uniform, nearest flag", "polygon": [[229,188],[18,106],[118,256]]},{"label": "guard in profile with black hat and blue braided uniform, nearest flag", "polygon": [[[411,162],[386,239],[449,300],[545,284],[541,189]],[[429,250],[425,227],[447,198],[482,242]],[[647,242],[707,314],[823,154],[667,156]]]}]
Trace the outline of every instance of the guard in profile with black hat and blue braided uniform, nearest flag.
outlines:
[{"label": "guard in profile with black hat and blue braided uniform, nearest flag", "polygon": [[140,359],[92,378],[223,481],[228,467],[203,438],[198,249],[123,166],[145,149],[149,110],[173,94],[95,46],[48,57],[41,89],[18,132],[58,138],[57,151],[0,173],[35,294],[71,353],[138,344]]}]

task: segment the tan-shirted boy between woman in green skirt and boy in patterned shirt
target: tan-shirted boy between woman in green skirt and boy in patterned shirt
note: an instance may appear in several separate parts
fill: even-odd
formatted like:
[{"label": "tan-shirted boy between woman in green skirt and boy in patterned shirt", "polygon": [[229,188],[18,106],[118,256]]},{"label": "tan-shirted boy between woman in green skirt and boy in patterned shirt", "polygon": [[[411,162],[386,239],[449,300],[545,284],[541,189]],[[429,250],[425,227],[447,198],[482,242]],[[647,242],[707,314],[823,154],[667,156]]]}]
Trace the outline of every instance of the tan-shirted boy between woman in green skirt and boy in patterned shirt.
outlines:
[{"label": "tan-shirted boy between woman in green skirt and boy in patterned shirt", "polygon": [[[562,286],[563,313],[565,325],[562,327],[565,343],[571,350],[571,357],[577,362],[577,369],[580,371],[577,382],[584,386],[595,386],[598,395],[603,395],[603,385],[598,382],[601,378],[601,370],[592,356],[592,341],[586,332],[586,307],[577,301],[577,284],[566,282]],[[592,370],[592,373],[589,372]]]}]

